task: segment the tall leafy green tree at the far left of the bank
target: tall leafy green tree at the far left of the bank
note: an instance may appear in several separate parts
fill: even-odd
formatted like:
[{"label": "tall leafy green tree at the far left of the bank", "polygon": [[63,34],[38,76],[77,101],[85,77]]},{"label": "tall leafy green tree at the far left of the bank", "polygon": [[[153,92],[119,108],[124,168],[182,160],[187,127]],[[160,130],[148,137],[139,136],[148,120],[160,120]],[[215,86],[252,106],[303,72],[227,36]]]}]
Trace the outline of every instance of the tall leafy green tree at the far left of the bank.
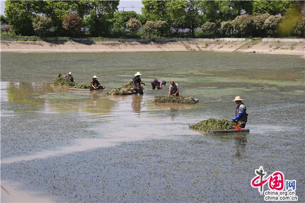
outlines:
[{"label": "tall leafy green tree at the far left of the bank", "polygon": [[11,1],[5,2],[5,15],[17,35],[31,36],[34,34],[33,18],[41,12],[42,1]]}]

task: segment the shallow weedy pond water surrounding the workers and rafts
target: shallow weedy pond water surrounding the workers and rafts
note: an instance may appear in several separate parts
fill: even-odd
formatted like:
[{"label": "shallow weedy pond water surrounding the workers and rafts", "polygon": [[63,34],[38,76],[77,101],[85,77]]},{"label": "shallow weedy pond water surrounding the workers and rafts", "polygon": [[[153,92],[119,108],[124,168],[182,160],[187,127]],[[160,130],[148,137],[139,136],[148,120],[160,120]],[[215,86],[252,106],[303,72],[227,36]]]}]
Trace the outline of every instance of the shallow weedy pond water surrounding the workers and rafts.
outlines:
[{"label": "shallow weedy pond water surrounding the workers and rafts", "polygon": [[[76,82],[98,75],[106,90],[140,71],[144,95],[50,86],[70,71]],[[62,202],[263,202],[250,186],[263,165],[296,179],[304,201],[304,76],[304,59],[287,55],[1,53],[1,179]],[[154,77],[175,80],[199,103],[152,103],[167,93],[150,89]],[[231,118],[236,95],[250,133],[189,129]]]}]

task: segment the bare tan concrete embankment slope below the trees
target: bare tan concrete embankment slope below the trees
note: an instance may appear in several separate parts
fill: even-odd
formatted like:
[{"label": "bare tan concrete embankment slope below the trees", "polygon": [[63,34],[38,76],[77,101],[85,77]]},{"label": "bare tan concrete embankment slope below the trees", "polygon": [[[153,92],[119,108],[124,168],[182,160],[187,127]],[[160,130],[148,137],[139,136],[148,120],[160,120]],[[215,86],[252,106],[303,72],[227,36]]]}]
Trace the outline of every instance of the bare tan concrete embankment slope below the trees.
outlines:
[{"label": "bare tan concrete embankment slope below the trees", "polygon": [[139,52],[215,51],[304,55],[304,39],[273,39],[261,42],[230,39],[192,39],[126,42],[1,41],[2,52]]}]

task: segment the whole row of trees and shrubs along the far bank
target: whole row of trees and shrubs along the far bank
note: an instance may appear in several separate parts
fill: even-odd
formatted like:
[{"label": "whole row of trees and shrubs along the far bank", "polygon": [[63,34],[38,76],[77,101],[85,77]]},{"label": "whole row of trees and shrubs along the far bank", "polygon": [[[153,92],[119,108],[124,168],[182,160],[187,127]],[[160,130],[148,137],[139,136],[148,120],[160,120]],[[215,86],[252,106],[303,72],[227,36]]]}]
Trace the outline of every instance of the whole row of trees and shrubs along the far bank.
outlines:
[{"label": "whole row of trees and shrubs along the far bank", "polygon": [[[41,37],[304,37],[295,1],[150,1],[142,14],[119,1],[6,1],[10,35]],[[189,31],[185,31],[188,29]]]}]

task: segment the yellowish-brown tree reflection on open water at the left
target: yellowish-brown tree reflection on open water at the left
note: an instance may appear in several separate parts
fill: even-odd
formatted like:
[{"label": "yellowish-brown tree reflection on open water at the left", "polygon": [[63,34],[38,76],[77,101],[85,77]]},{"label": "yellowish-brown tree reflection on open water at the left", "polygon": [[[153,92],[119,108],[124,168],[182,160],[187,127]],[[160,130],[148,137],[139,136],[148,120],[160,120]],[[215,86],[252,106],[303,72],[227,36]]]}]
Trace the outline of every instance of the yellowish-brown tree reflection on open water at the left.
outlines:
[{"label": "yellowish-brown tree reflection on open water at the left", "polygon": [[9,102],[37,107],[25,109],[23,112],[77,113],[109,117],[116,104],[116,100],[106,97],[102,90],[79,93],[68,92],[67,87],[51,87],[50,83],[1,83],[2,87],[5,87],[1,91],[7,93]]}]

